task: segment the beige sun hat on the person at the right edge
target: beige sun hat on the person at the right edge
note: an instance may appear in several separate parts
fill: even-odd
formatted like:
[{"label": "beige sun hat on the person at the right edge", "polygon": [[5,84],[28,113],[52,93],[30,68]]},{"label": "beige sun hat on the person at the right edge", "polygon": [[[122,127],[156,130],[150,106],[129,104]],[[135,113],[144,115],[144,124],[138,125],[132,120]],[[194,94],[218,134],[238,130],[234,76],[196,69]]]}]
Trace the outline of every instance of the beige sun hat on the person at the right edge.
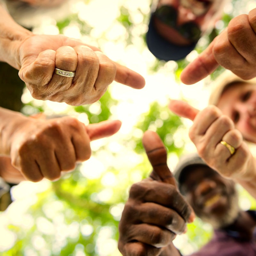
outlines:
[{"label": "beige sun hat on the person at the right edge", "polygon": [[218,78],[212,84],[212,92],[209,97],[209,105],[216,106],[220,100],[220,96],[222,95],[224,89],[228,85],[233,84],[235,82],[244,82],[256,85],[256,77],[250,80],[244,80],[233,74],[230,70],[224,71],[220,76],[218,76]]}]

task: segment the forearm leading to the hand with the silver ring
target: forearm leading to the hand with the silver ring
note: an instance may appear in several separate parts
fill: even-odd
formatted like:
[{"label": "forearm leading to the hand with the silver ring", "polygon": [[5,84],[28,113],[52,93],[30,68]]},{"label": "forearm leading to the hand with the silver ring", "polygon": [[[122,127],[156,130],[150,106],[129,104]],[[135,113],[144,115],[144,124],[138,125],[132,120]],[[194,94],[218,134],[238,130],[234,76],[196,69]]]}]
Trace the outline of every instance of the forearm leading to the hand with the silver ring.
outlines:
[{"label": "forearm leading to the hand with the silver ring", "polygon": [[0,3],[0,61],[20,69],[19,47],[33,33],[17,24]]}]

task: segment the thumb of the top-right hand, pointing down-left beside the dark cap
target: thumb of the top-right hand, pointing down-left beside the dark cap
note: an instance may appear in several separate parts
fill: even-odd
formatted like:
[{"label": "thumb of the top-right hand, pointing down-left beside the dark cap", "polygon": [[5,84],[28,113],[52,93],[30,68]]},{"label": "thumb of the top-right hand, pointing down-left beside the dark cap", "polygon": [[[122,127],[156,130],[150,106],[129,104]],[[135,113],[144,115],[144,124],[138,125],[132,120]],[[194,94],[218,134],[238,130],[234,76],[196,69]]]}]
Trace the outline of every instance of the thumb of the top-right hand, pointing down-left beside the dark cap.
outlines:
[{"label": "thumb of the top-right hand, pointing down-left beside the dark cap", "polygon": [[[217,37],[216,37],[217,38]],[[216,39],[215,38],[215,39]],[[213,55],[214,41],[198,57],[188,64],[180,74],[180,80],[184,84],[195,84],[218,68],[219,64]]]}]

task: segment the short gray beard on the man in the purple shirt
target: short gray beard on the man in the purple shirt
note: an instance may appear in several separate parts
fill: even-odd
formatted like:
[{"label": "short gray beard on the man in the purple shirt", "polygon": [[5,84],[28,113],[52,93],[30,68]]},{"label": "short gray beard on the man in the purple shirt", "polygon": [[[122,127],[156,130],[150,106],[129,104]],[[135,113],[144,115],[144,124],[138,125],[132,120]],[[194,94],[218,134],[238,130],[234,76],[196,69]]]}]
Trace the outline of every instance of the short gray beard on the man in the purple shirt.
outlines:
[{"label": "short gray beard on the man in the purple shirt", "polygon": [[223,214],[222,217],[216,219],[213,218],[211,215],[209,216],[204,213],[197,214],[197,216],[204,222],[211,224],[214,229],[224,228],[232,224],[236,220],[240,212],[240,208],[238,206],[238,193],[236,191],[233,192],[234,194],[229,197],[230,208],[225,214]]}]

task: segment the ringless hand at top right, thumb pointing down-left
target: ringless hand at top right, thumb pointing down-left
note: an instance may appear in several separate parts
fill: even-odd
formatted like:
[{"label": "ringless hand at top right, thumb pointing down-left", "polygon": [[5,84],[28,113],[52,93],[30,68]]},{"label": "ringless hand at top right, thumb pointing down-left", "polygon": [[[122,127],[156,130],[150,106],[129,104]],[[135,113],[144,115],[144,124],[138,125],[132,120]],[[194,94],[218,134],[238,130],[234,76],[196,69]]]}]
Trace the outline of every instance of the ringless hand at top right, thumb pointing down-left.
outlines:
[{"label": "ringless hand at top right, thumb pointing down-left", "polygon": [[219,65],[244,80],[256,76],[256,8],[233,18],[226,29],[181,73],[184,84],[194,84]]}]

